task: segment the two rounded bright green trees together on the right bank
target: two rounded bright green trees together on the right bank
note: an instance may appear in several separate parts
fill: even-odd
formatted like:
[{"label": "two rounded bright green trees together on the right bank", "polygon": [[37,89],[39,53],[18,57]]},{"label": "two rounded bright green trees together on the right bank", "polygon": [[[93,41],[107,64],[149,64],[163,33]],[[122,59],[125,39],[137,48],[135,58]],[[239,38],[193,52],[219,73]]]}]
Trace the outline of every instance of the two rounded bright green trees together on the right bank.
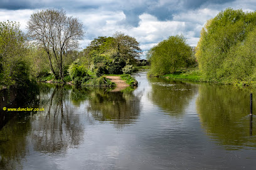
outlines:
[{"label": "two rounded bright green trees together on the right bank", "polygon": [[201,80],[227,84],[256,82],[256,12],[231,8],[206,22],[195,49],[171,36],[147,54],[151,75],[176,73],[198,63]]}]

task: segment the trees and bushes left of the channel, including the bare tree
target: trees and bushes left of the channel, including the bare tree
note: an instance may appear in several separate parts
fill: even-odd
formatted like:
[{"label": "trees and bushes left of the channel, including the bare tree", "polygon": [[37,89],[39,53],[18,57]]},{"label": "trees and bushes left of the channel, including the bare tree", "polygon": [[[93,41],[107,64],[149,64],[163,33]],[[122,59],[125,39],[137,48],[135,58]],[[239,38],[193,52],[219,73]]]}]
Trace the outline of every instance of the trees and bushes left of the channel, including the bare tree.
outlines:
[{"label": "trees and bushes left of the channel, including the bare tree", "polygon": [[131,74],[141,49],[134,37],[115,32],[93,39],[78,51],[83,26],[63,10],[31,14],[28,34],[17,22],[0,22],[0,86],[17,86],[32,79],[85,83],[103,74]]}]

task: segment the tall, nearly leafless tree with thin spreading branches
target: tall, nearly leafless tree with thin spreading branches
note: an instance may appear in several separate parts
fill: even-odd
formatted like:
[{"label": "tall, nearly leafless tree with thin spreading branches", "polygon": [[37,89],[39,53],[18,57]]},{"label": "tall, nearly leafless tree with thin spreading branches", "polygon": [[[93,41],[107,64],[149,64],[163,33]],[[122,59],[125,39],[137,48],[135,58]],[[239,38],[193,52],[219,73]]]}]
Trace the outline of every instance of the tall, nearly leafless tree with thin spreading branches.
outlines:
[{"label": "tall, nearly leafless tree with thin spreading branches", "polygon": [[33,13],[27,28],[31,40],[48,54],[55,78],[64,81],[67,51],[78,47],[78,40],[83,37],[82,23],[77,18],[67,17],[63,10],[46,9]]}]

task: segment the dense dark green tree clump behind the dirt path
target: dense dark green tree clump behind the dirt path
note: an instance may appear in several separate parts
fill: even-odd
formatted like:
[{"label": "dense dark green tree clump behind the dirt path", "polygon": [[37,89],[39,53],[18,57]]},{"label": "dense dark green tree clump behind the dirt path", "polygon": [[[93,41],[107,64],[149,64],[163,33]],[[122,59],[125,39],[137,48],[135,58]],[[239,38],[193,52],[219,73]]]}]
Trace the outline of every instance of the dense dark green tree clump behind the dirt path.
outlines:
[{"label": "dense dark green tree clump behind the dirt path", "polygon": [[134,37],[116,32],[113,37],[97,37],[82,51],[80,58],[96,75],[122,74],[125,63],[135,64],[141,49]]}]

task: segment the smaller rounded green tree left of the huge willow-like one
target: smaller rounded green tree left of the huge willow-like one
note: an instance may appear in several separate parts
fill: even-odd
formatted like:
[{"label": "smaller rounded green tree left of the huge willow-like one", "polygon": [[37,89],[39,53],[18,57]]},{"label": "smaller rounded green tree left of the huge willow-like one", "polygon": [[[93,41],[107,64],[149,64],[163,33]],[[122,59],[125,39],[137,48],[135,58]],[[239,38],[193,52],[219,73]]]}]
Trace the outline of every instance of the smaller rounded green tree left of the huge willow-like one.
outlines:
[{"label": "smaller rounded green tree left of the huge willow-like one", "polygon": [[170,36],[147,54],[151,61],[151,73],[156,76],[175,73],[177,69],[188,66],[192,56],[192,48],[186,44],[183,36]]}]

